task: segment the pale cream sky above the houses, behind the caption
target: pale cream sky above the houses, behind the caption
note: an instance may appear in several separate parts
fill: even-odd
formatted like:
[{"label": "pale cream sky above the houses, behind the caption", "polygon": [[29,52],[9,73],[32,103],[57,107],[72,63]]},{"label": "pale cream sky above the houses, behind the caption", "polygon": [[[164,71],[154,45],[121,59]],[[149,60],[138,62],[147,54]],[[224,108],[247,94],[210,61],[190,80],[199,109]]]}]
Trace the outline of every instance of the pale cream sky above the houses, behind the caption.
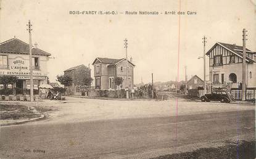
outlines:
[{"label": "pale cream sky above the houses, behind the caption", "polygon": [[[133,58],[134,83],[203,78],[203,36],[208,51],[215,43],[242,45],[246,28],[247,48],[256,51],[256,0],[0,0],[0,42],[14,36],[28,43],[31,20],[32,44],[49,52],[51,82],[64,70],[93,63],[96,57],[122,59],[123,40],[128,39],[128,57]],[[73,10],[112,11],[116,15],[74,15]],[[158,11],[159,15],[126,15],[133,11]],[[196,15],[178,15],[181,10]],[[165,15],[176,11],[176,15]],[[124,14],[122,14],[122,12]],[[207,78],[209,59],[207,58]],[[93,66],[90,66],[93,69]],[[93,71],[92,71],[92,77]]]}]

